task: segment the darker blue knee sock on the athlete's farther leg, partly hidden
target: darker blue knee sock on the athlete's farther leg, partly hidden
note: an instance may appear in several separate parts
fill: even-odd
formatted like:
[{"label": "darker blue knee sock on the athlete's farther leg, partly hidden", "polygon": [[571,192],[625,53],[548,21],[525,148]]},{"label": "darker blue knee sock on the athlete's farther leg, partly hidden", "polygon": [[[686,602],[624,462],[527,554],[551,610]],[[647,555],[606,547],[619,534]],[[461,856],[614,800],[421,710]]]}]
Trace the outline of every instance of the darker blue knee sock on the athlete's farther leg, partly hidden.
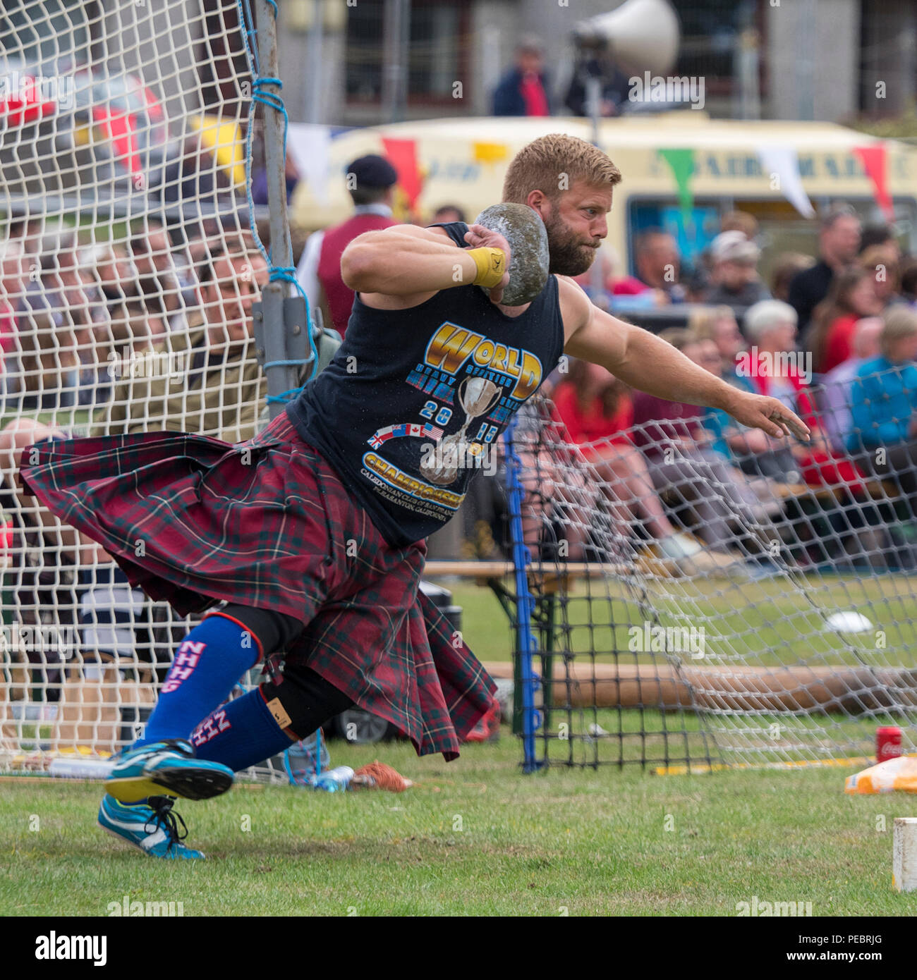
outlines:
[{"label": "darker blue knee sock on the athlete's farther leg, partly hidden", "polygon": [[274,720],[260,689],[214,711],[194,729],[191,742],[198,759],[222,762],[235,772],[295,745]]}]

